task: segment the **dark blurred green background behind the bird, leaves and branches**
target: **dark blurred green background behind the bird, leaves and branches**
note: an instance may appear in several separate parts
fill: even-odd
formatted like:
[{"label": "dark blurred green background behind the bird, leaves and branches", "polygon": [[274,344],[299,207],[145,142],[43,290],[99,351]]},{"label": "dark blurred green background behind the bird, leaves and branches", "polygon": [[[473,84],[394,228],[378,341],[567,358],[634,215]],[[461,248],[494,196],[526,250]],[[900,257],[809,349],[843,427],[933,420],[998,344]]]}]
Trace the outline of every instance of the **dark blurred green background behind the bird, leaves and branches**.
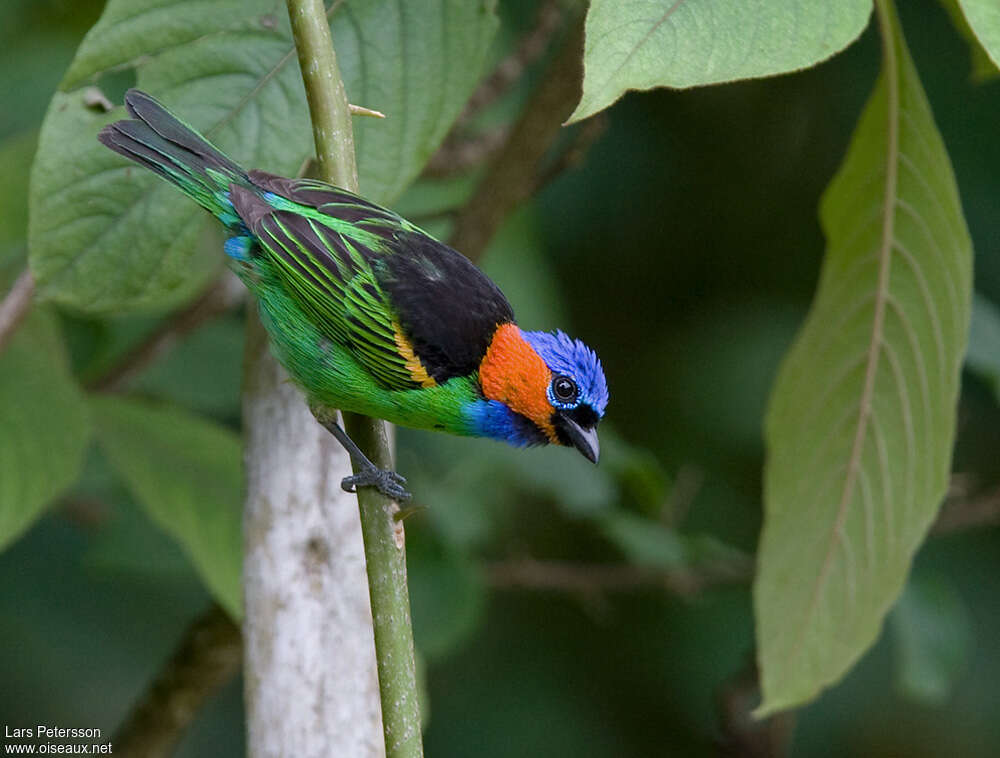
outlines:
[{"label": "dark blurred green background behind the bird, leaves and branches", "polygon": [[[4,175],[30,163],[48,100],[101,6],[0,5]],[[941,5],[900,6],[957,174],[977,291],[1000,302],[1000,82],[970,80],[968,46]],[[535,3],[501,0],[499,10],[498,56],[530,26]],[[600,354],[612,392],[608,455],[595,470],[566,451],[400,432],[399,468],[429,506],[407,522],[428,755],[701,756],[733,736],[719,703],[752,661],[749,584],[688,594],[648,583],[513,589],[502,586],[504,571],[524,559],[697,571],[699,561],[753,552],[767,392],[816,284],[818,199],[878,56],[869,30],[802,73],[630,94],[607,113],[583,163],[491,245],[484,267],[522,325],[561,326]],[[487,118],[512,117],[531,83]],[[22,185],[9,184],[0,188],[8,227],[23,220],[24,202],[9,191]],[[470,186],[424,179],[398,209],[440,231],[435,211]],[[21,237],[0,229],[5,287],[23,265],[23,246],[6,241]],[[161,317],[62,314],[76,371],[100,373]],[[238,430],[242,324],[241,312],[211,321],[130,391]],[[996,484],[997,397],[964,379],[955,470]],[[793,755],[1000,755],[998,537],[993,526],[930,538],[917,588],[878,644],[797,714]],[[210,603],[96,449],[74,491],[0,553],[0,587],[0,723],[106,734]],[[929,608],[947,611],[943,671],[920,659],[919,644],[907,653],[914,625],[931,623],[921,616]],[[234,681],[178,754],[237,756],[243,741]]]}]

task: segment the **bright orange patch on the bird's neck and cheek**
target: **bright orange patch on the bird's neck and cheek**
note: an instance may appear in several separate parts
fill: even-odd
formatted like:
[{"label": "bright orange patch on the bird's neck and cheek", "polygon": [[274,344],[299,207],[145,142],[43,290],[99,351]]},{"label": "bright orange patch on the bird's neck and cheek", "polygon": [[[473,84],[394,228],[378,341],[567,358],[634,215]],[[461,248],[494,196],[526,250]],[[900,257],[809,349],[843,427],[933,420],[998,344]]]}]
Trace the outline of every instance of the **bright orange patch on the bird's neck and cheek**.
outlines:
[{"label": "bright orange patch on the bird's neck and cheek", "polygon": [[531,419],[551,442],[556,442],[551,421],[555,409],[546,394],[551,380],[549,367],[521,336],[516,324],[503,324],[496,330],[479,364],[483,394]]}]

